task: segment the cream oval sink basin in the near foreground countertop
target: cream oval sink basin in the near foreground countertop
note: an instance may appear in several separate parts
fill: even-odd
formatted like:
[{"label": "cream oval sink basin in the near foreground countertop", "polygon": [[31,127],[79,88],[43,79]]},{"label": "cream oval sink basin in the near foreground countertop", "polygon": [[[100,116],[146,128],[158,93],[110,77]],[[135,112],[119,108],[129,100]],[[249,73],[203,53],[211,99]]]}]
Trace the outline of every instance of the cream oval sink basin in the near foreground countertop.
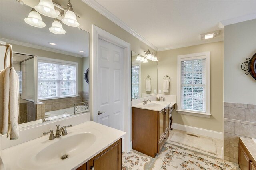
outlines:
[{"label": "cream oval sink basin in the near foreground countertop", "polygon": [[96,141],[96,136],[92,133],[79,133],[73,136],[58,140],[36,154],[35,161],[39,164],[49,164],[60,160],[63,155],[68,155],[67,159],[76,156],[81,150],[86,150]]}]

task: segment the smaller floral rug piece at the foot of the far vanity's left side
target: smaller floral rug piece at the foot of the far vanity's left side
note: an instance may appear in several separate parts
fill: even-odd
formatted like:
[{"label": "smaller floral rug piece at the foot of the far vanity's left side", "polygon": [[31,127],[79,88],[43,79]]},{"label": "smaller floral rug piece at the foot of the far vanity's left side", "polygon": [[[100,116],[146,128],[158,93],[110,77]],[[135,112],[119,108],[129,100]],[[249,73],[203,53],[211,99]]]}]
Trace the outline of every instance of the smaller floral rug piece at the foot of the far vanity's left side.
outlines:
[{"label": "smaller floral rug piece at the foot of the far vanity's left side", "polygon": [[122,170],[146,170],[146,163],[150,163],[153,158],[131,150],[122,154]]}]

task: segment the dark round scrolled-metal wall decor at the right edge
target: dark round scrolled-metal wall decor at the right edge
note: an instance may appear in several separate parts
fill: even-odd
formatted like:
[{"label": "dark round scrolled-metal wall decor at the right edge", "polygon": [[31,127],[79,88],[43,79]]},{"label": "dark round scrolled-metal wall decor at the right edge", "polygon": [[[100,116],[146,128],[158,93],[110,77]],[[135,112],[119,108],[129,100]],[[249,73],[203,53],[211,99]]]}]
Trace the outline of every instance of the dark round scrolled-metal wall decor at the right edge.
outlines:
[{"label": "dark round scrolled-metal wall decor at the right edge", "polygon": [[246,61],[241,64],[241,69],[246,71],[246,75],[250,74],[256,80],[256,53],[252,58],[246,58]]}]

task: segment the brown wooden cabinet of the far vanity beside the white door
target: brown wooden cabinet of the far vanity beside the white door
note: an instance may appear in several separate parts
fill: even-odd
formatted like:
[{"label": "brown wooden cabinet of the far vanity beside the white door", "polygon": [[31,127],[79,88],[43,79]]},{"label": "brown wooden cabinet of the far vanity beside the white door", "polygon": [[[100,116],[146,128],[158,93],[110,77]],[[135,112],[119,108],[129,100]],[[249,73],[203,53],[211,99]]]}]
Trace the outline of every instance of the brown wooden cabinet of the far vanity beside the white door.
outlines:
[{"label": "brown wooden cabinet of the far vanity beside the white door", "polygon": [[169,106],[161,111],[132,107],[132,148],[155,157],[169,137]]}]

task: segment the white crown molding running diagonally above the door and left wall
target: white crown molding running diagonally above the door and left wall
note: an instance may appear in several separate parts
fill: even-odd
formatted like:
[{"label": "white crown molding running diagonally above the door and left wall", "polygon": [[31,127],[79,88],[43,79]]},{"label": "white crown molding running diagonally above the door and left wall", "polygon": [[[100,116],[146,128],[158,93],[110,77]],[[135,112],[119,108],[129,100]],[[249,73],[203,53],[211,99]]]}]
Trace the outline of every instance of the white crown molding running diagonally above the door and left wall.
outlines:
[{"label": "white crown molding running diagonally above the door and left wall", "polygon": [[140,41],[144,42],[146,45],[150,46],[155,51],[158,51],[158,47],[156,47],[151,42],[146,40],[146,38],[142,37],[140,34],[138,34],[136,31],[134,31],[132,28],[126,25],[124,22],[122,22],[119,18],[114,16],[114,14],[109,12],[106,8],[101,6],[95,0],[82,0],[82,2],[86,3],[87,5],[92,7],[94,10],[98,11],[100,14],[102,14],[103,16],[105,16],[106,18],[114,22],[116,25],[126,30],[128,33],[132,34],[134,37],[138,38]]}]

